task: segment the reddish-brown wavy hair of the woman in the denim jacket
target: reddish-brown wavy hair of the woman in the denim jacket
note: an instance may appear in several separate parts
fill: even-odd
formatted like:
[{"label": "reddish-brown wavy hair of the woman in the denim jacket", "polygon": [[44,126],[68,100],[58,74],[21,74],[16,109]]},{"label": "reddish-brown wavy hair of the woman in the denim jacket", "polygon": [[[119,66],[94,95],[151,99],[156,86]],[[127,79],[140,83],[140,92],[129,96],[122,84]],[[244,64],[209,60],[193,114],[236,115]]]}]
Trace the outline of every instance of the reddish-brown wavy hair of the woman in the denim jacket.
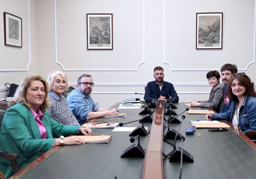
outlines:
[{"label": "reddish-brown wavy hair of the woman in the denim jacket", "polygon": [[256,97],[256,92],[254,89],[254,82],[247,75],[235,74],[229,79],[229,83],[227,85],[227,94],[231,101],[238,101],[238,97],[232,93],[232,82],[234,79],[237,79],[239,83],[246,88],[244,95],[248,94],[250,96]]}]

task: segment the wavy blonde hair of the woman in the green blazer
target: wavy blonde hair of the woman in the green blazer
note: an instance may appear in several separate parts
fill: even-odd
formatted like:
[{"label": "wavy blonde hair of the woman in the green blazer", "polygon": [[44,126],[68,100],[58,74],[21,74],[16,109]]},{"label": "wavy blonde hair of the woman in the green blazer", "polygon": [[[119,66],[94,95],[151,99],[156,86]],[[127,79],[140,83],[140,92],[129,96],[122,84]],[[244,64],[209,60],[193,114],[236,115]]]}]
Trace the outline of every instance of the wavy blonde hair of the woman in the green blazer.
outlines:
[{"label": "wavy blonde hair of the woman in the green blazer", "polygon": [[31,85],[32,81],[41,81],[44,86],[45,97],[44,97],[43,103],[39,107],[40,110],[42,112],[44,112],[47,110],[47,108],[50,107],[50,100],[48,99],[48,83],[40,75],[30,76],[30,77],[27,77],[22,80],[21,84],[18,86],[18,88],[15,92],[14,100],[10,101],[8,104],[9,107],[20,102],[25,107],[30,108],[30,105],[28,104],[28,102],[26,100],[26,93],[27,93],[27,89]]}]

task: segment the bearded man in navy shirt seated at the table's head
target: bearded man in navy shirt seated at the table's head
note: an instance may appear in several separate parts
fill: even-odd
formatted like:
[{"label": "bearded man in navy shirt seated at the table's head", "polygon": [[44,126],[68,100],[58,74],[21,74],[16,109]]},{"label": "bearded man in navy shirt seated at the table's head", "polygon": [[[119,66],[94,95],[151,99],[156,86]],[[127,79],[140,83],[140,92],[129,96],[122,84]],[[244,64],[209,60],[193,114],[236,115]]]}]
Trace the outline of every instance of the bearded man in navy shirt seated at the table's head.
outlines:
[{"label": "bearded man in navy shirt seated at the table's head", "polygon": [[155,100],[164,100],[168,102],[178,102],[179,96],[177,95],[174,86],[164,81],[164,69],[162,67],[154,68],[155,81],[148,82],[146,86],[144,99],[146,102]]}]

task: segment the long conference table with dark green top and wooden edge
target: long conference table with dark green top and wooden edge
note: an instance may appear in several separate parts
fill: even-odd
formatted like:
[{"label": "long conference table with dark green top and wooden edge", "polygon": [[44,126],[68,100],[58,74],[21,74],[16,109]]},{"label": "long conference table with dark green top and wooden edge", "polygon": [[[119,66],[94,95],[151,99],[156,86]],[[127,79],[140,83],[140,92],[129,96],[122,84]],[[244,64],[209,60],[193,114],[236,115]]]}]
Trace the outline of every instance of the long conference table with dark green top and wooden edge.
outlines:
[{"label": "long conference table with dark green top and wooden edge", "polygon": [[[174,109],[178,114],[187,108],[184,102],[175,103],[174,105],[178,108]],[[111,108],[113,107],[117,108],[118,104]],[[189,107],[189,109],[200,108]],[[139,115],[139,112],[142,110],[144,109],[120,109],[122,113],[126,113],[126,118],[116,120],[99,118],[97,120],[126,123],[141,119],[144,115]],[[151,110],[154,111],[155,108],[151,108]],[[163,110],[166,111],[167,109]],[[183,149],[193,155],[194,162],[183,162],[182,178],[256,178],[256,144],[254,142],[232,127],[227,132],[209,132],[207,128],[194,128],[194,135],[185,135],[185,129],[192,127],[189,121],[205,120],[205,114],[184,113],[184,115],[185,119],[179,133],[185,137]],[[169,115],[163,116],[162,113],[161,117],[154,115],[154,118],[158,120],[163,119],[163,117],[167,120]],[[178,119],[182,120],[181,115]],[[158,122],[163,126],[167,125],[164,120]],[[138,121],[130,124],[132,127],[141,125]],[[144,123],[144,127],[148,127],[148,130],[151,129],[151,136],[140,136],[140,144],[145,150],[150,148],[148,146],[149,138],[152,138],[150,139],[152,141],[155,135],[158,135],[154,134],[153,130],[155,128],[152,127],[153,125],[155,125],[155,121]],[[170,128],[178,130],[179,125],[170,124]],[[145,155],[145,158],[121,158],[121,153],[132,145],[130,132],[113,132],[112,130],[111,128],[93,129],[93,133],[110,133],[113,138],[108,143],[85,143],[77,146],[55,147],[11,178],[145,178],[145,172],[148,172],[145,169],[145,162],[150,161],[150,155]],[[159,128],[156,130],[159,130]],[[202,135],[197,136],[197,133]],[[174,143],[174,139],[168,139],[168,141]],[[135,142],[137,142],[137,139],[135,139]],[[176,146],[181,147],[179,140],[176,141]],[[156,146],[151,144],[152,147],[157,149],[161,147],[164,154],[173,150],[170,144],[162,141],[156,142]],[[148,151],[148,153],[150,152]],[[159,178],[179,178],[180,162],[169,162],[168,158],[160,157],[162,158],[159,161],[162,161],[162,164],[158,160],[153,163],[155,171],[153,169],[151,171],[152,176],[146,178],[154,178],[154,175],[157,176],[161,172],[163,172],[163,177]]]}]

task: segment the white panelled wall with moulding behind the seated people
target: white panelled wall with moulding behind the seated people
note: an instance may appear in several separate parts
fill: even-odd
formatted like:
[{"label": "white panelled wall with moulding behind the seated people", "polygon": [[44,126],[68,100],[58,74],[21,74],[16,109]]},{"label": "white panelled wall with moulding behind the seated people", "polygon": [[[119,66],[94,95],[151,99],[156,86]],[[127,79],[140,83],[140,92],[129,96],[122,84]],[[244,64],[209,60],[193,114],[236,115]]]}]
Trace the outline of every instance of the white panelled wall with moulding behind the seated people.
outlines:
[{"label": "white panelled wall with moulding behind the seated people", "polygon": [[[93,98],[103,108],[123,98],[142,99],[134,93],[144,92],[154,80],[155,66],[164,68],[165,80],[174,84],[182,102],[208,99],[206,73],[226,63],[238,65],[256,81],[252,0],[0,2],[0,10],[22,17],[24,27],[22,49],[4,46],[0,28],[2,61],[14,65],[0,67],[0,99],[6,95],[5,82],[18,83],[32,74],[46,78],[52,70],[66,73],[73,86],[81,74],[91,74]],[[222,50],[195,49],[197,12],[223,12]],[[87,50],[87,13],[113,13],[113,50]],[[15,70],[21,68],[25,70]]]}]

